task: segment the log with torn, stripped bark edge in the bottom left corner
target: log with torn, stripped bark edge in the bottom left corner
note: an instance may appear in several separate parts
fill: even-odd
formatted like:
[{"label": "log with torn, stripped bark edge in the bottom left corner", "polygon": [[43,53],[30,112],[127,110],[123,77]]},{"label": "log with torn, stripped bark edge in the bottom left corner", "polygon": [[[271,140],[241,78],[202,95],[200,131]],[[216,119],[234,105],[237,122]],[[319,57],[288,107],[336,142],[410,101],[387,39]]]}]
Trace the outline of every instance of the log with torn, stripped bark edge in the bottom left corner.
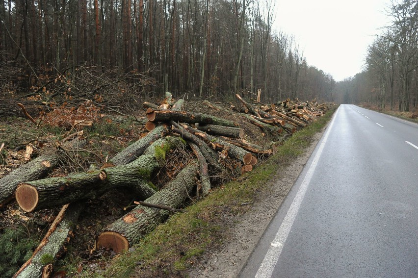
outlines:
[{"label": "log with torn, stripped bark edge in the bottom left corner", "polygon": [[81,203],[66,204],[62,207],[39,246],[13,278],[51,277],[52,264],[46,263],[44,256],[55,259],[63,250],[64,244],[71,238],[70,232],[82,207]]}]

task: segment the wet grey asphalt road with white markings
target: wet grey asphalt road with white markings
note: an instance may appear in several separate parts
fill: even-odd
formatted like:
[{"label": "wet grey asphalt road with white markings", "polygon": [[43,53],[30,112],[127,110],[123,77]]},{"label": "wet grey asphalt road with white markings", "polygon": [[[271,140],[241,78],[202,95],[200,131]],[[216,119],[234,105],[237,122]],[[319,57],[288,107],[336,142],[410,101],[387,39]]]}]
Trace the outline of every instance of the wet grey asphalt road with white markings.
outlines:
[{"label": "wet grey asphalt road with white markings", "polygon": [[418,125],[336,111],[240,277],[418,278]]}]

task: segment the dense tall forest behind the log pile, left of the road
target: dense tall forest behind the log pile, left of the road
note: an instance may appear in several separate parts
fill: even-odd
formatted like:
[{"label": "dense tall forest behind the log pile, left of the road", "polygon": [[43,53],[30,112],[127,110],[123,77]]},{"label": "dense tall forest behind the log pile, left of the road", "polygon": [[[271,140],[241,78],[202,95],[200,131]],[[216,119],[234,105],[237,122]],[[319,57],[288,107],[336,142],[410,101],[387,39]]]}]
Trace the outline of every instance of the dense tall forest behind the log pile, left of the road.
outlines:
[{"label": "dense tall forest behind the log pile, left of the road", "polygon": [[141,86],[147,94],[232,99],[261,89],[266,101],[333,100],[333,77],[308,64],[292,35],[273,28],[273,0],[0,3],[1,59],[17,60],[32,88],[48,81],[40,76],[84,66],[143,73],[152,80]]}]

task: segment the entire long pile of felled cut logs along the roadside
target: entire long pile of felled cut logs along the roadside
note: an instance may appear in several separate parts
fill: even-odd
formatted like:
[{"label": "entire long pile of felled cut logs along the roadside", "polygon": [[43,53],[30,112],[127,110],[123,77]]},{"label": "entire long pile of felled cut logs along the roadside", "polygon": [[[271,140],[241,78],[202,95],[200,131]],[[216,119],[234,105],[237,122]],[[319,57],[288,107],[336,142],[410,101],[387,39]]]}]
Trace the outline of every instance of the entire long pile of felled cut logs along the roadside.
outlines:
[{"label": "entire long pile of felled cut logs along the roadside", "polygon": [[[211,114],[230,115],[219,117],[185,111],[184,100],[175,101],[167,93],[160,105],[144,102],[148,119],[145,127],[149,132],[100,169],[43,178],[50,168],[56,167],[62,149],[58,148],[33,160],[30,166],[26,164],[27,169],[18,168],[1,178],[0,205],[15,197],[26,212],[62,207],[41,245],[15,277],[48,277],[52,264],[40,258],[43,254],[56,257],[62,250],[83,208],[83,200],[97,198],[109,190],[129,188],[138,205],[97,237],[99,248],[110,248],[116,253],[127,250],[173,212],[184,212],[180,208],[187,199],[204,197],[212,187],[252,171],[261,160],[275,153],[283,140],[328,110],[326,104],[316,101],[296,99],[267,105],[245,101],[239,95],[236,98],[239,104],[229,107],[201,102],[214,112]],[[232,111],[235,118],[231,117]],[[251,140],[251,135],[240,126],[243,122],[254,125],[269,140],[262,144]],[[62,146],[73,148],[78,141],[82,142],[78,138]],[[180,152],[182,158],[171,163],[169,171],[167,156]],[[167,177],[158,190],[152,181],[164,166]]]}]

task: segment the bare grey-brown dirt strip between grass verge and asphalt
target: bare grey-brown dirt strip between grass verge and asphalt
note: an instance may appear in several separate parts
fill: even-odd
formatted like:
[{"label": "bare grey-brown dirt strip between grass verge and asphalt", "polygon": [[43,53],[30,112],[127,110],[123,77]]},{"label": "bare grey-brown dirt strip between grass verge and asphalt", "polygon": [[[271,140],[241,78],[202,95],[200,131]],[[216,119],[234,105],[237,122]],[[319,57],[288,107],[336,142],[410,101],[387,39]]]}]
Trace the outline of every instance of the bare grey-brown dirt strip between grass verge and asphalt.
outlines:
[{"label": "bare grey-brown dirt strip between grass verge and asphalt", "polygon": [[260,240],[290,188],[299,177],[303,167],[311,156],[316,144],[322,137],[317,133],[309,148],[297,160],[290,162],[285,169],[279,169],[276,177],[260,191],[257,200],[250,204],[248,212],[238,215],[224,215],[229,233],[224,234],[227,245],[220,250],[207,250],[196,267],[187,273],[188,277],[229,278],[237,277],[248,257]]}]

